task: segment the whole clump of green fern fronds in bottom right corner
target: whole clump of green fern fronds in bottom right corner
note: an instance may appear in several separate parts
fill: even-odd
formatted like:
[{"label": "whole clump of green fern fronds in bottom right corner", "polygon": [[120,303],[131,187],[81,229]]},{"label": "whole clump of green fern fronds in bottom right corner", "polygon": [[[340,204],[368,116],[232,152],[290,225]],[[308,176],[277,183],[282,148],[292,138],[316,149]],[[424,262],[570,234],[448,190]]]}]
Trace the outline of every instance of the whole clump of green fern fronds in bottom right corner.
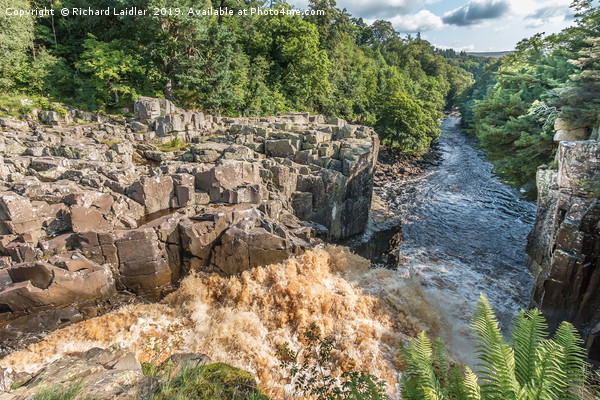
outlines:
[{"label": "whole clump of green fern fronds in bottom right corner", "polygon": [[404,399],[542,400],[593,398],[582,341],[564,322],[550,339],[538,310],[521,311],[507,342],[487,299],[472,318],[480,378],[448,362],[441,342],[421,333],[403,348]]}]

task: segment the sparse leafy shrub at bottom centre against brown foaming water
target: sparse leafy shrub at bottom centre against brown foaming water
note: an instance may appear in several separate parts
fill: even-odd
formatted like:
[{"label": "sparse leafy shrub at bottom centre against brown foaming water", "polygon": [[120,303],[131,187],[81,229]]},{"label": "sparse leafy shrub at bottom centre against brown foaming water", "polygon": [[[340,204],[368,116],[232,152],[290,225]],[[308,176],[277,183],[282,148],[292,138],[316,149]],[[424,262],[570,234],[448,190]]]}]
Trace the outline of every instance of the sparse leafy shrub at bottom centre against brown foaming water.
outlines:
[{"label": "sparse leafy shrub at bottom centre against brown foaming water", "polygon": [[287,370],[297,395],[313,396],[319,400],[384,400],[385,382],[362,371],[345,371],[334,377],[326,371],[334,366],[331,351],[334,341],[321,337],[319,328],[312,324],[304,332],[305,347],[294,351],[289,343],[278,346],[281,368]]}]

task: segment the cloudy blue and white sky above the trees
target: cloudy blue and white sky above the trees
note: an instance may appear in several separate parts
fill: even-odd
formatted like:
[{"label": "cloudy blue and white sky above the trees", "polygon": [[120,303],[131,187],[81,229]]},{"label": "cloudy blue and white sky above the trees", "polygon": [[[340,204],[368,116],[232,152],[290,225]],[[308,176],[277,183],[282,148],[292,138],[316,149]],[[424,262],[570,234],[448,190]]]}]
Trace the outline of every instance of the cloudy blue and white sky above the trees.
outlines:
[{"label": "cloudy blue and white sky above the trees", "polygon": [[[440,48],[507,51],[539,32],[573,24],[571,0],[337,0],[353,17],[385,19],[401,33],[421,32]],[[305,8],[308,0],[290,1]]]}]

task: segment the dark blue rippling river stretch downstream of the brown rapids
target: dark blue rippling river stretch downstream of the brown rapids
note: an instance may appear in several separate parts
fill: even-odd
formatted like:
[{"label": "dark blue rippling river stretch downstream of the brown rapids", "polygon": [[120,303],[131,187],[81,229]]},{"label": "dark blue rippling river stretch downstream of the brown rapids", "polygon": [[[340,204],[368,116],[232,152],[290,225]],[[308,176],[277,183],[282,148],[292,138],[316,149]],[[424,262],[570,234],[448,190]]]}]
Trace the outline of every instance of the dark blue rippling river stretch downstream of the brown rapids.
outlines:
[{"label": "dark blue rippling river stretch downstream of the brown rapids", "polygon": [[439,165],[378,194],[404,220],[399,273],[420,283],[446,321],[444,339],[456,356],[472,361],[469,318],[479,294],[504,329],[529,301],[525,243],[535,204],[494,175],[459,122],[443,121]]}]

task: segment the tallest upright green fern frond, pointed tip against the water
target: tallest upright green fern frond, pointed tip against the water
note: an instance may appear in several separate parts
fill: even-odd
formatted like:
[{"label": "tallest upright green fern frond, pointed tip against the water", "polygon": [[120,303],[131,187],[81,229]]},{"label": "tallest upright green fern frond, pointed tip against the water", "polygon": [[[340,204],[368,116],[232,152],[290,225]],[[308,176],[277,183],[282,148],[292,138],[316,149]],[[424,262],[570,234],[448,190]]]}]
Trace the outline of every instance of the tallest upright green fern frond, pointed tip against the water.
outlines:
[{"label": "tallest upright green fern frond, pointed tip against the water", "polygon": [[471,326],[478,343],[476,354],[484,381],[482,394],[486,399],[516,399],[520,386],[515,377],[514,351],[505,343],[498,319],[483,295],[475,307]]}]

